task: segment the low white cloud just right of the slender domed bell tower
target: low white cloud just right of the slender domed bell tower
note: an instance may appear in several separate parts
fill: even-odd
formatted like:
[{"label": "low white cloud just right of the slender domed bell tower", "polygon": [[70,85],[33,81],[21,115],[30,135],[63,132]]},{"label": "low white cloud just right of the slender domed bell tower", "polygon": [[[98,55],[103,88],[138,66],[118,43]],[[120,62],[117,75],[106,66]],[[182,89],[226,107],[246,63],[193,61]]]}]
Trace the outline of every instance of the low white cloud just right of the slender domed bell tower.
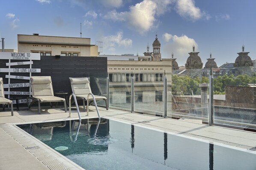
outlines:
[{"label": "low white cloud just right of the slender domed bell tower", "polygon": [[[162,57],[171,58],[171,54],[173,52],[174,58],[177,58],[177,62],[179,66],[185,65],[188,53],[192,52],[192,47],[195,46],[197,49],[198,45],[193,38],[189,38],[186,35],[177,36],[165,33],[163,37],[171,37],[163,49],[162,49]],[[196,50],[197,51],[197,50]]]}]

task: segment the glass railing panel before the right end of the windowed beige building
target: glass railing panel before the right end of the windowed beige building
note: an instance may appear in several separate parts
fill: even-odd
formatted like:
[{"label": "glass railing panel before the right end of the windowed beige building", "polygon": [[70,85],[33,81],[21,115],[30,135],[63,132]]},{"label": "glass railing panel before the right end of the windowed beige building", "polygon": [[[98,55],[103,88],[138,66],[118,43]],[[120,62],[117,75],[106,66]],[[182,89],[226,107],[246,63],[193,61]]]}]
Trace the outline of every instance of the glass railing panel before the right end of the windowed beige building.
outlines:
[{"label": "glass railing panel before the right end of the windowed beige building", "polygon": [[136,75],[134,75],[134,111],[163,116],[163,74],[147,73],[147,76],[144,76],[141,80]]}]

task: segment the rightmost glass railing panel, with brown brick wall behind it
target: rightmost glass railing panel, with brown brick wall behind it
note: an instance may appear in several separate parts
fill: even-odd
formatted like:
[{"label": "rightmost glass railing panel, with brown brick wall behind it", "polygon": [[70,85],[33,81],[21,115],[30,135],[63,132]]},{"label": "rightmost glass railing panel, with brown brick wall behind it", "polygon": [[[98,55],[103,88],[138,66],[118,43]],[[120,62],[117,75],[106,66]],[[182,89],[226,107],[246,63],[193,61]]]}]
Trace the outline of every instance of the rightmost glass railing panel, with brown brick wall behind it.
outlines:
[{"label": "rightmost glass railing panel, with brown brick wall behind it", "polygon": [[253,66],[214,74],[214,124],[256,130],[256,73]]}]

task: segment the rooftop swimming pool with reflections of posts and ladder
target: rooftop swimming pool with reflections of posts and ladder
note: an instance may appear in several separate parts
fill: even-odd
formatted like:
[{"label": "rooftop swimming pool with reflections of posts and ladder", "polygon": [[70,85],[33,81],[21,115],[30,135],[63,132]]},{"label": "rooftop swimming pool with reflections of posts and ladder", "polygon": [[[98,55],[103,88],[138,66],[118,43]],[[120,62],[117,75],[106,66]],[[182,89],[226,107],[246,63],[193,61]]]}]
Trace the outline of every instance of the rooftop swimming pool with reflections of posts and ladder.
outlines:
[{"label": "rooftop swimming pool with reflections of posts and ladder", "polygon": [[256,170],[256,152],[101,118],[18,125],[86,170]]}]

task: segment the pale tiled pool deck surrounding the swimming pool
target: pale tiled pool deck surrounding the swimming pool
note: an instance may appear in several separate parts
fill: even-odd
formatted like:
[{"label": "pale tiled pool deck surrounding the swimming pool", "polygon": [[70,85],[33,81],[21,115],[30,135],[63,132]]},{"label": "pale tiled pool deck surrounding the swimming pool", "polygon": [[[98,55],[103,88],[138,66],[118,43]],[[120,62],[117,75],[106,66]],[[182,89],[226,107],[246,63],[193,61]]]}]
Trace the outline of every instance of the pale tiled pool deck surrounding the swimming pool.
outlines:
[{"label": "pale tiled pool deck surrounding the swimming pool", "polygon": [[[21,108],[22,109],[22,108]],[[80,112],[82,119],[98,118],[95,107],[89,107],[89,116]],[[82,107],[80,107],[80,111]],[[213,144],[224,144],[256,152],[256,133],[225,127],[208,126],[198,121],[175,120],[151,115],[125,112],[116,109],[99,108],[102,118],[128,122],[137,126],[161,130],[166,133],[185,135]],[[14,111],[0,111],[0,170],[83,170],[53,149],[45,146],[33,136],[19,130],[15,124],[40,123],[78,119],[77,111],[71,110],[71,117],[62,108],[42,107]]]}]

